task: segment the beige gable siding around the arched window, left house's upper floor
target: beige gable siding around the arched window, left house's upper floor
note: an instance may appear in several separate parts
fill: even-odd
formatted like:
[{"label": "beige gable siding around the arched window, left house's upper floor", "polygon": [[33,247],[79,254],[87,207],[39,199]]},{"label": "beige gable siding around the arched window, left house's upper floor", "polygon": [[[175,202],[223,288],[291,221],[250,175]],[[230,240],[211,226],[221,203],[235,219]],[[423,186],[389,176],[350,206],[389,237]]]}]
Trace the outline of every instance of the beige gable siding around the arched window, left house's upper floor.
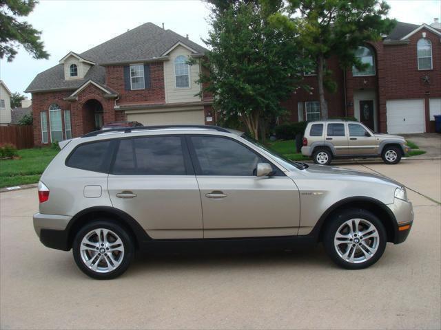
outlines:
[{"label": "beige gable siding around the arched window, left house's upper floor", "polygon": [[196,80],[199,78],[199,65],[189,66],[189,88],[176,88],[176,80],[174,77],[174,60],[180,55],[190,56],[192,52],[185,47],[178,46],[170,52],[170,60],[164,62],[164,83],[165,83],[165,102],[198,102],[201,101],[199,96],[194,96],[201,91],[201,87]]}]

